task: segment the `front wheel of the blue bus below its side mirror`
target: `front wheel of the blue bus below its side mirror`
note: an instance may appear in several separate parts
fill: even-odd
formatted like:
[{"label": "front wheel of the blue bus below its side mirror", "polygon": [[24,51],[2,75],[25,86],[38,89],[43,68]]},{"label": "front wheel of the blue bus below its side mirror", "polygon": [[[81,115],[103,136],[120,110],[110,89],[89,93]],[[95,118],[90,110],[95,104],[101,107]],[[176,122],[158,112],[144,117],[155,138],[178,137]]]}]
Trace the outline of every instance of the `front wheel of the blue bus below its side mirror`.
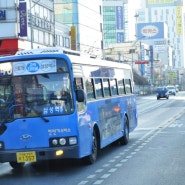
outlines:
[{"label": "front wheel of the blue bus below its side mirror", "polygon": [[93,138],[92,138],[92,153],[87,157],[83,158],[83,161],[86,164],[93,164],[95,163],[98,155],[98,139],[95,130],[93,131]]}]

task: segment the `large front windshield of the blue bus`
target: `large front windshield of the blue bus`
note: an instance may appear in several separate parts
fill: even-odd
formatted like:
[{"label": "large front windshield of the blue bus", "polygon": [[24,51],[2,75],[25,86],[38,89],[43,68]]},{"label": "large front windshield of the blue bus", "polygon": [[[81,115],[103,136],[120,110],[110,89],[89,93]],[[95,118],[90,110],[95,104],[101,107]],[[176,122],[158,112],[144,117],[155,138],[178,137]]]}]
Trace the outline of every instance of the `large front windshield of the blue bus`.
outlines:
[{"label": "large front windshield of the blue bus", "polygon": [[73,111],[68,71],[0,77],[0,122]]}]

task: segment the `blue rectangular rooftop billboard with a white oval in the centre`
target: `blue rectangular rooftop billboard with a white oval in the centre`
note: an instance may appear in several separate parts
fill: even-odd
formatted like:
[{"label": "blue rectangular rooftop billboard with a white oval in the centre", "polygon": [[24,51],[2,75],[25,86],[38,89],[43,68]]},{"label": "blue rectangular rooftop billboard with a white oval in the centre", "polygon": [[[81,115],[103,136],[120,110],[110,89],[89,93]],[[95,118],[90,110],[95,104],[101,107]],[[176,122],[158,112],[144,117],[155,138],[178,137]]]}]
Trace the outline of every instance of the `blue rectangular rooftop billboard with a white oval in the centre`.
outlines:
[{"label": "blue rectangular rooftop billboard with a white oval in the centre", "polygon": [[139,23],[136,26],[137,38],[140,40],[165,38],[165,27],[162,22]]}]

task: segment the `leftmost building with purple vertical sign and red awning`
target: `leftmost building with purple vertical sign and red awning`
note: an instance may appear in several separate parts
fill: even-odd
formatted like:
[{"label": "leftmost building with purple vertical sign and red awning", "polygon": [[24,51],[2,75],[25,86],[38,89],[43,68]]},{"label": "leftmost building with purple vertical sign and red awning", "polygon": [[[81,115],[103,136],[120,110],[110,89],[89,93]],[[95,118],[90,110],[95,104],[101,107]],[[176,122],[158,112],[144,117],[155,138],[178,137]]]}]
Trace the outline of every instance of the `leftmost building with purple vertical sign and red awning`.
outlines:
[{"label": "leftmost building with purple vertical sign and red awning", "polygon": [[0,1],[0,26],[0,55],[47,46],[70,48],[69,28],[55,22],[53,0]]}]

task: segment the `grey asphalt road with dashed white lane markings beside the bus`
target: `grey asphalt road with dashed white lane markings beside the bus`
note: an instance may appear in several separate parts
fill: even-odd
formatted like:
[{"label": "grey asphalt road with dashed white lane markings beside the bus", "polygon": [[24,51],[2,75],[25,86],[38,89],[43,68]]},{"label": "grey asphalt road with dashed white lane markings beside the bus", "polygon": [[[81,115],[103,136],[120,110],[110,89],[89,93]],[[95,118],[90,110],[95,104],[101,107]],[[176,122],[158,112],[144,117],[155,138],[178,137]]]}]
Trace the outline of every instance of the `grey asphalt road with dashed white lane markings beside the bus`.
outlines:
[{"label": "grey asphalt road with dashed white lane markings beside the bus", "polygon": [[95,164],[77,160],[0,165],[0,185],[184,185],[185,93],[138,97],[139,125],[126,146],[103,149]]}]

